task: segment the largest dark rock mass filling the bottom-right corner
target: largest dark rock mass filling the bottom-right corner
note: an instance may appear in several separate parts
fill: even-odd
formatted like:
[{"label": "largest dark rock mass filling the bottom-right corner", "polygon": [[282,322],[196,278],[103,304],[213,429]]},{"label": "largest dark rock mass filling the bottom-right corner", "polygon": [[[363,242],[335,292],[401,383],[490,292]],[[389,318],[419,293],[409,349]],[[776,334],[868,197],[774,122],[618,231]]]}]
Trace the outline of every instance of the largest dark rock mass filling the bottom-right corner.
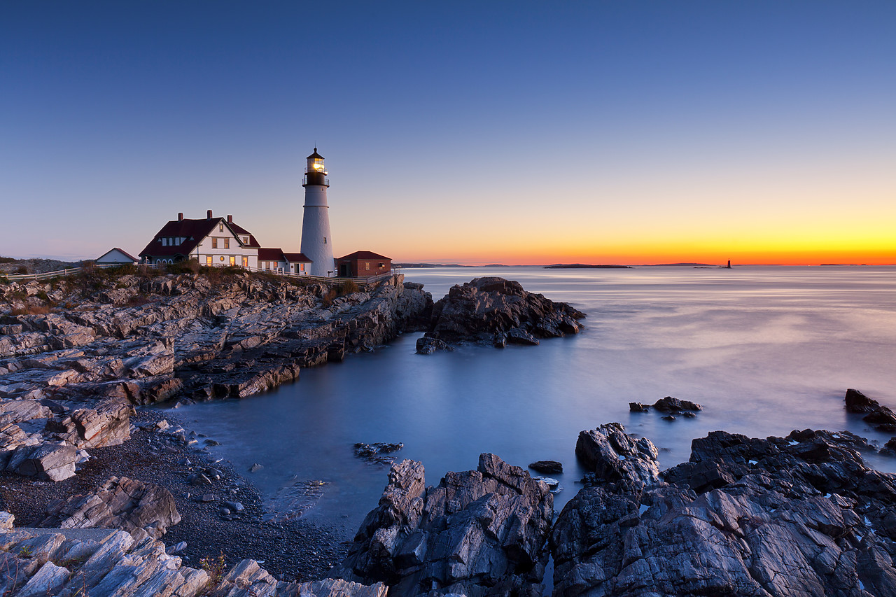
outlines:
[{"label": "largest dark rock mass filling the bottom-right corner", "polygon": [[844,432],[715,431],[664,481],[586,487],[552,532],[554,594],[896,595],[896,475],[864,449]]}]

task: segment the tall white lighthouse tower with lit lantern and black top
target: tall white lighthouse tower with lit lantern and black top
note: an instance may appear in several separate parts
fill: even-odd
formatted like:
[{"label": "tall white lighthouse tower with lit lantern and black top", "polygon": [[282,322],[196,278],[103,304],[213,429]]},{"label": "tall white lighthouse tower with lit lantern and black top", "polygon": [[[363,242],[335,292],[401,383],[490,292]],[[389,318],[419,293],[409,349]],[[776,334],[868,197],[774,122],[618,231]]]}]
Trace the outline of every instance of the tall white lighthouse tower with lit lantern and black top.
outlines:
[{"label": "tall white lighthouse tower with lit lantern and black top", "polygon": [[302,253],[311,260],[309,273],[313,276],[332,276],[336,265],[333,261],[332,238],[330,238],[330,206],[327,205],[327,169],[323,167],[323,156],[314,148],[308,156],[305,169],[305,214],[302,217]]}]

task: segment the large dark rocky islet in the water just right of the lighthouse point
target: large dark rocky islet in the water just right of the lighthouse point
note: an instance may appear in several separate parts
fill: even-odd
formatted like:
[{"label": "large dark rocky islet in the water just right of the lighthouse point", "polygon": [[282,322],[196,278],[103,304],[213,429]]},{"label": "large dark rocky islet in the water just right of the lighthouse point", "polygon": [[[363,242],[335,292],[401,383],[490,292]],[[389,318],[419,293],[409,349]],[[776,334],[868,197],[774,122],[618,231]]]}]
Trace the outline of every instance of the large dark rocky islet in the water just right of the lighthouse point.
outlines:
[{"label": "large dark rocky islet in the water just right of the lighthouse point", "polygon": [[[447,344],[537,344],[539,338],[579,333],[582,325],[578,320],[584,316],[565,303],[523,290],[519,282],[476,278],[462,286],[452,286],[444,299],[435,303],[424,337]],[[432,350],[435,349],[429,348],[428,341],[418,341],[418,352],[428,354]]]}]

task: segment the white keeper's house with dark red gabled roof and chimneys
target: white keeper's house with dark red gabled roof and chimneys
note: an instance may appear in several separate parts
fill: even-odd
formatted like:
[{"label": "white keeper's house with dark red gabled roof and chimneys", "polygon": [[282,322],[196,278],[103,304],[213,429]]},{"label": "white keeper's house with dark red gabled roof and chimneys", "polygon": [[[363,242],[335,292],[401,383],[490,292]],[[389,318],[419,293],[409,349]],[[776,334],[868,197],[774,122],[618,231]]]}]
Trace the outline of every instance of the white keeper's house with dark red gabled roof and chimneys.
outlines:
[{"label": "white keeper's house with dark red gabled roof and chimneys", "polygon": [[261,245],[248,230],[237,226],[233,217],[187,220],[183,213],[169,221],[141,252],[145,264],[174,264],[195,259],[202,265],[258,267]]}]

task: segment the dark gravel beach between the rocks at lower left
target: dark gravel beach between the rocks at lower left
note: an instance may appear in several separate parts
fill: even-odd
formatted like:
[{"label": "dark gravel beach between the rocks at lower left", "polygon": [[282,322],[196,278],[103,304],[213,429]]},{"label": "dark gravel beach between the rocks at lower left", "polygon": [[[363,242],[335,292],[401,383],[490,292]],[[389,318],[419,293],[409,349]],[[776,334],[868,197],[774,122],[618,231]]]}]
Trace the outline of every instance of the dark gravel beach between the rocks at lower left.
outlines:
[{"label": "dark gravel beach between the rocks at lower left", "polygon": [[[305,581],[326,577],[345,558],[350,537],[344,530],[302,518],[265,520],[262,497],[232,468],[213,462],[199,446],[187,447],[176,438],[141,428],[161,419],[177,425],[170,411],[138,410],[131,418],[138,427],[131,439],[120,446],[90,449],[90,461],[64,481],[0,472],[0,509],[15,515],[16,526],[36,526],[51,501],[90,492],[110,476],[124,476],[156,483],[172,493],[182,520],[162,541],[167,546],[186,541],[178,555],[187,566],[202,567],[202,558],[223,554],[228,567],[252,558],[263,560],[262,567],[281,580]],[[210,484],[187,481],[200,474]],[[213,499],[197,501],[209,496]],[[243,510],[224,502],[239,502]],[[223,508],[229,514],[222,514]]]}]

